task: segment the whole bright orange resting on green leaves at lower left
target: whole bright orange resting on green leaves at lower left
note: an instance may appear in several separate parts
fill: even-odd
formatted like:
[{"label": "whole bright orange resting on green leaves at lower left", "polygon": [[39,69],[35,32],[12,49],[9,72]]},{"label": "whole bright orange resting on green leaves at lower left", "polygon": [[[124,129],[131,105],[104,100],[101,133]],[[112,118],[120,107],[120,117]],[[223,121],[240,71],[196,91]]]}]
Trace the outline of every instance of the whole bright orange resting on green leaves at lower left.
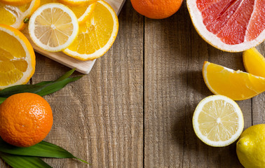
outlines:
[{"label": "whole bright orange resting on green leaves at lower left", "polygon": [[50,105],[38,94],[13,94],[0,105],[0,137],[8,144],[20,147],[38,144],[52,125]]}]

